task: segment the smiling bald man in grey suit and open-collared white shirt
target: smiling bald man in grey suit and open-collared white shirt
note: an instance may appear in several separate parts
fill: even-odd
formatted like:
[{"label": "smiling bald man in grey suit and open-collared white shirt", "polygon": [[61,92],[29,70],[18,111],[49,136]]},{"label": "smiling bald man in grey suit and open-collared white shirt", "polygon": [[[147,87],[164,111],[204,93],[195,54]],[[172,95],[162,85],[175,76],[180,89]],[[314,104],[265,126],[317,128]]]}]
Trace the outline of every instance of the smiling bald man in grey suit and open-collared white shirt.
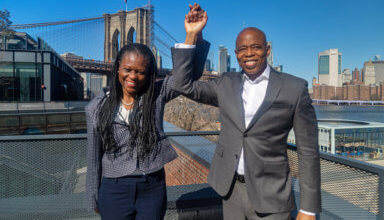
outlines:
[{"label": "smiling bald man in grey suit and open-collared white shirt", "polygon": [[[185,44],[194,45],[207,22],[198,5],[185,19]],[[270,48],[254,27],[236,39],[241,73],[224,73],[208,82],[192,78],[193,49],[173,49],[174,89],[218,106],[221,131],[208,183],[223,196],[224,219],[290,219],[294,207],[287,136],[296,135],[300,175],[298,220],[315,219],[320,205],[317,120],[307,82],[267,64]]]}]

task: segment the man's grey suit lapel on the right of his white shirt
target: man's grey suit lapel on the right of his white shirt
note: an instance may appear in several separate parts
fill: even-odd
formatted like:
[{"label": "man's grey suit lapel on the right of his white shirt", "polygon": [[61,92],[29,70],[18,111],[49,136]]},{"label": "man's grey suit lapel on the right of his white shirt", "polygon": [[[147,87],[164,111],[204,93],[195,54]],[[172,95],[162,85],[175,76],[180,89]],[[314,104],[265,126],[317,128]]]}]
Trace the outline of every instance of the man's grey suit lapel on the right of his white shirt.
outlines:
[{"label": "man's grey suit lapel on the right of his white shirt", "polygon": [[252,121],[249,123],[248,127],[246,128],[246,132],[249,129],[251,129],[252,126],[256,123],[256,121],[271,107],[273,101],[276,99],[277,95],[280,92],[281,83],[282,83],[281,73],[276,72],[271,67],[271,72],[269,74],[269,81],[267,86],[267,92],[265,93],[263,103],[261,103],[256,114],[253,116]]}]

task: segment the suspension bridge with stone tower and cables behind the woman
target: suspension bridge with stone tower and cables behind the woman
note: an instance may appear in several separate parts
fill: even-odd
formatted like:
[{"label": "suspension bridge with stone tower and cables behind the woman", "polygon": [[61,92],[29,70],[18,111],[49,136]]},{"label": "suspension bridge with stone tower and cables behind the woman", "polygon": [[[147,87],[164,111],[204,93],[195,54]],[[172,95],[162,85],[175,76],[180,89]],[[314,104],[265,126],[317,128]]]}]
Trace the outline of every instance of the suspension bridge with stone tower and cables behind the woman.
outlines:
[{"label": "suspension bridge with stone tower and cables behind the woman", "polygon": [[137,42],[149,46],[161,60],[170,59],[170,48],[176,42],[165,28],[154,20],[154,8],[145,6],[132,11],[103,14],[100,17],[17,24],[11,28],[39,37],[59,54],[70,52],[64,59],[79,72],[109,74],[112,61],[123,45]]}]

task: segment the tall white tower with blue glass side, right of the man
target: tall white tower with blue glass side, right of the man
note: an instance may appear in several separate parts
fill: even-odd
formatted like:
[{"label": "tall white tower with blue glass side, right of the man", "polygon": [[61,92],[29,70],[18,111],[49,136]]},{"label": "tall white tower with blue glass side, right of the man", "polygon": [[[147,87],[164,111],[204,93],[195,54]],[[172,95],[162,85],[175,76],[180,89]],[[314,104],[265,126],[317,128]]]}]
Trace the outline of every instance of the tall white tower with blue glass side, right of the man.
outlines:
[{"label": "tall white tower with blue glass side, right of the man", "polygon": [[319,53],[319,84],[341,86],[341,53],[338,49],[329,49]]}]

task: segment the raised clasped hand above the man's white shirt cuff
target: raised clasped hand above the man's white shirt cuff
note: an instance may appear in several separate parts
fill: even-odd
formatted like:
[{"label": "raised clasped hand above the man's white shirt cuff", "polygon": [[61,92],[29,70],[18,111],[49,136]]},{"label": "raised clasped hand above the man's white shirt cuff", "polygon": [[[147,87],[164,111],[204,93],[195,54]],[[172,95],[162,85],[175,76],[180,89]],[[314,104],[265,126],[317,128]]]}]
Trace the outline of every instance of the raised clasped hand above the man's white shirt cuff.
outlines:
[{"label": "raised clasped hand above the man's white shirt cuff", "polygon": [[184,19],[184,27],[187,33],[184,43],[194,45],[207,24],[208,16],[207,12],[199,4],[189,5],[189,8],[190,11],[185,15]]}]

